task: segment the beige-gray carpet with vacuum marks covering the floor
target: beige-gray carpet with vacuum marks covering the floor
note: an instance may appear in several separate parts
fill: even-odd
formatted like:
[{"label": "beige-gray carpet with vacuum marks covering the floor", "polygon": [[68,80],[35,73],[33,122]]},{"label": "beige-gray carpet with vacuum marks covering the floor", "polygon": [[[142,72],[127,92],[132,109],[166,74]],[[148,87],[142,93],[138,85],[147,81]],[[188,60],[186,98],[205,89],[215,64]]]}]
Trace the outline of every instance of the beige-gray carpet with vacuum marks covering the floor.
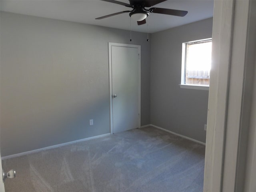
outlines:
[{"label": "beige-gray carpet with vacuum marks covering the floor", "polygon": [[202,192],[205,147],[148,127],[3,160],[6,192]]}]

